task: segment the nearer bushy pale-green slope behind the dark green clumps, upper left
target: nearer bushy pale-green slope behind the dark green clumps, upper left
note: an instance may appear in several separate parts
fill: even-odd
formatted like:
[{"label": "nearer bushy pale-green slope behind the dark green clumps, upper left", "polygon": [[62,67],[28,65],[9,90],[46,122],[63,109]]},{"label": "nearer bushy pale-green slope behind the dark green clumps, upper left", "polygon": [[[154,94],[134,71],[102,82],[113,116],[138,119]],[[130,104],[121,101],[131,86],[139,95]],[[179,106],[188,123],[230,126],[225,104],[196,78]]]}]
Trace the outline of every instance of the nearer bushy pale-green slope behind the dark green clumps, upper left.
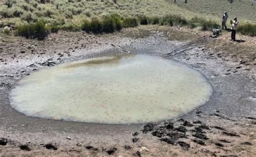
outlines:
[{"label": "nearer bushy pale-green slope behind the dark green clumps, upper left", "polygon": [[[5,0],[0,6],[2,25],[33,22],[43,18],[49,23],[70,25],[86,18],[99,18],[117,12],[123,17],[163,16],[167,13],[191,12],[164,0]],[[192,13],[192,15],[196,15]]]}]

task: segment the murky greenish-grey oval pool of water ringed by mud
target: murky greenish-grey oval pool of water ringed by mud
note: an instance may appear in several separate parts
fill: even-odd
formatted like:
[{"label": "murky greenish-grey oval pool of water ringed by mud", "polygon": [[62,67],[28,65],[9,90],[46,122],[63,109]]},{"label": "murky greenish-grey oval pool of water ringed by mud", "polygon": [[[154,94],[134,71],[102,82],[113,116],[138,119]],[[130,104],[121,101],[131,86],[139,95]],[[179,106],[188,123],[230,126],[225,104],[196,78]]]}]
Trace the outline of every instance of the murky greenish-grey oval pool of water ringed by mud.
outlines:
[{"label": "murky greenish-grey oval pool of water ringed by mud", "polygon": [[130,124],[170,119],[207,102],[212,87],[182,63],[159,56],[106,57],[32,73],[11,90],[27,116]]}]

